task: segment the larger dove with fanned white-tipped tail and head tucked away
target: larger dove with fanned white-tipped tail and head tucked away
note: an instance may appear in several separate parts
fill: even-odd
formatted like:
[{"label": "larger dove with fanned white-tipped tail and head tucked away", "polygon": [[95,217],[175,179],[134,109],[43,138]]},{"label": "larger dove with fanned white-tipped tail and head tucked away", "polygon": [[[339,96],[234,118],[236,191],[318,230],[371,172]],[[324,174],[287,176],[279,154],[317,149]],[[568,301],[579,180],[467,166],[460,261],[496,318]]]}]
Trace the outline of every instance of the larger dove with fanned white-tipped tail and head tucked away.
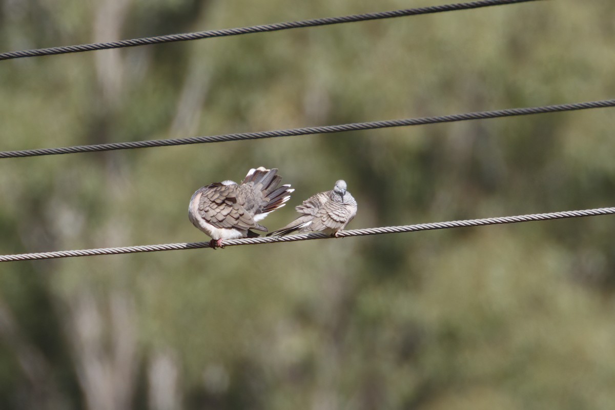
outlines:
[{"label": "larger dove with fanned white-tipped tail and head tucked away", "polygon": [[188,218],[212,240],[210,246],[224,247],[222,240],[257,237],[250,231],[268,232],[258,222],[284,207],[295,191],[290,184],[279,186],[277,168],[252,168],[242,183],[223,181],[197,189],[190,199]]}]

